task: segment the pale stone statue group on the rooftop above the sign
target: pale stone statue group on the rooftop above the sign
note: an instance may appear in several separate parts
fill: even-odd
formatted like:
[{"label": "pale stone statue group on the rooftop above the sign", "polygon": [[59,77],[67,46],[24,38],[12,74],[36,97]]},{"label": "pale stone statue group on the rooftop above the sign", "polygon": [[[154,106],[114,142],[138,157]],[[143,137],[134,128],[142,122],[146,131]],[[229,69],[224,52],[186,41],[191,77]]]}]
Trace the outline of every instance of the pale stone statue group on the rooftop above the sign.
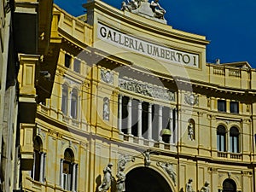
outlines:
[{"label": "pale stone statue group on the rooftop above the sign", "polygon": [[129,11],[133,14],[141,15],[150,20],[156,20],[166,24],[166,20],[164,18],[166,10],[160,6],[159,0],[152,0],[151,3],[148,3],[148,0],[125,1],[122,2],[121,10]]}]

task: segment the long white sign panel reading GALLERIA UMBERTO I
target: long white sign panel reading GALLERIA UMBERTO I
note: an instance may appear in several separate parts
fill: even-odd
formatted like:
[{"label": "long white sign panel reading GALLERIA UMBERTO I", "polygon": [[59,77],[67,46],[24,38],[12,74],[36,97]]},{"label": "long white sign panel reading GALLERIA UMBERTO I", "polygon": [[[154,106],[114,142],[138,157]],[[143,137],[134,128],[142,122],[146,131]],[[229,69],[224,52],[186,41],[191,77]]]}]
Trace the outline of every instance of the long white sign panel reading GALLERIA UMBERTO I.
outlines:
[{"label": "long white sign panel reading GALLERIA UMBERTO I", "polygon": [[199,67],[199,55],[135,38],[98,23],[97,37],[109,44],[148,55],[157,60],[172,61],[189,67]]}]

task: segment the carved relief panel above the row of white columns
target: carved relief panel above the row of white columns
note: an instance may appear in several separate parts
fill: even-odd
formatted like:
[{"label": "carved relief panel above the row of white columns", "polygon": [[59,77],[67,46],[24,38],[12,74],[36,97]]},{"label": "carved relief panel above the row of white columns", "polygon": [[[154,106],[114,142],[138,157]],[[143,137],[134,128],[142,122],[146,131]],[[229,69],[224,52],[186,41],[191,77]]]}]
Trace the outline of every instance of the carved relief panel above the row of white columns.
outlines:
[{"label": "carved relief panel above the row of white columns", "polygon": [[175,93],[165,87],[154,84],[147,84],[135,79],[119,79],[119,87],[124,90],[142,94],[143,96],[151,96],[157,99],[175,102]]}]

